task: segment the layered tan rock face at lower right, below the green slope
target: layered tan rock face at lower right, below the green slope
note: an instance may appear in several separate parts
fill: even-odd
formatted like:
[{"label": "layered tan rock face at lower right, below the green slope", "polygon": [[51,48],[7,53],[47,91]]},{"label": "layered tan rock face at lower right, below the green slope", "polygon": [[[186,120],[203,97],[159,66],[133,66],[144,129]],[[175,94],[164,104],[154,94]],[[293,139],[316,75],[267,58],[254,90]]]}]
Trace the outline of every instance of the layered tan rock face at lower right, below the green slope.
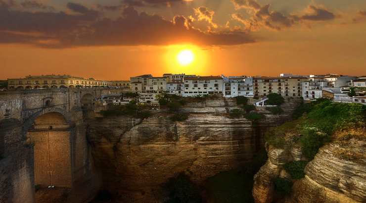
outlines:
[{"label": "layered tan rock face at lower right, below the green slope", "polygon": [[[305,178],[294,180],[290,196],[283,203],[365,203],[366,202],[366,130],[337,132],[333,141],[320,148],[305,167]],[[267,163],[255,175],[253,196],[256,203],[271,203],[274,198],[272,178],[289,174],[283,164],[305,159],[300,149],[266,147]]]}]

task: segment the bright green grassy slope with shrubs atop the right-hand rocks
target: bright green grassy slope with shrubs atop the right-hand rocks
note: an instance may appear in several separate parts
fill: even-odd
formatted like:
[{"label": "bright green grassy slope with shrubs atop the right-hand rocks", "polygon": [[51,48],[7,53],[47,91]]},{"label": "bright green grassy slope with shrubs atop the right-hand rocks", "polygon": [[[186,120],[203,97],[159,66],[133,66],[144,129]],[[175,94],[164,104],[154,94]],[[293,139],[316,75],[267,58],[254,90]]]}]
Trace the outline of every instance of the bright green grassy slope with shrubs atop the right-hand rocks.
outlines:
[{"label": "bright green grassy slope with shrubs atop the right-hand rocks", "polygon": [[313,159],[319,148],[331,141],[330,136],[334,132],[366,127],[366,106],[320,98],[302,104],[293,117],[298,119],[272,129],[265,139],[276,148],[283,147],[285,143],[301,145],[303,152]]}]

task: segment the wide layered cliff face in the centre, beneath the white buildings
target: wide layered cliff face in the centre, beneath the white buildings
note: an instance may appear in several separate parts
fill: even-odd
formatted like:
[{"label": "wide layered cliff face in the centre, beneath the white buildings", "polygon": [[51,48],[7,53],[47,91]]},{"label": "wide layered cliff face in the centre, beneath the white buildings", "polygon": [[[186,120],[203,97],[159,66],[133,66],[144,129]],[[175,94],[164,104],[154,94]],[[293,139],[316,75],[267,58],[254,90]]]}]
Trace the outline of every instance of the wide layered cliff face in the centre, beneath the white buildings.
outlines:
[{"label": "wide layered cliff face in the centre, beneath the white buildings", "polygon": [[250,120],[224,115],[238,108],[234,99],[207,100],[186,104],[181,111],[189,116],[182,122],[162,112],[142,122],[112,117],[91,121],[87,135],[105,188],[117,191],[121,202],[159,202],[162,184],[181,172],[200,183],[251,160],[264,145],[264,132],[291,119],[294,107],[287,103],[284,113],[267,114],[252,128]]}]

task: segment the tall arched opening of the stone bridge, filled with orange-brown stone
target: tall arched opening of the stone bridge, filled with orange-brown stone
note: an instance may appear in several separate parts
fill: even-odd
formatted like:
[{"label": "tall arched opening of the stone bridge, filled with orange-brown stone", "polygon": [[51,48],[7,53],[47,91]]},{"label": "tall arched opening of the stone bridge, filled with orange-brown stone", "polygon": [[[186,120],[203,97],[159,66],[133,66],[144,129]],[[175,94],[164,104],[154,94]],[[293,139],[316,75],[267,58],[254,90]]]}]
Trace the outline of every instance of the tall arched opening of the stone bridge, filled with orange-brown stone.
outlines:
[{"label": "tall arched opening of the stone bridge, filled with orange-brown stone", "polygon": [[65,117],[58,112],[37,117],[27,137],[34,144],[35,185],[72,187],[70,129]]}]

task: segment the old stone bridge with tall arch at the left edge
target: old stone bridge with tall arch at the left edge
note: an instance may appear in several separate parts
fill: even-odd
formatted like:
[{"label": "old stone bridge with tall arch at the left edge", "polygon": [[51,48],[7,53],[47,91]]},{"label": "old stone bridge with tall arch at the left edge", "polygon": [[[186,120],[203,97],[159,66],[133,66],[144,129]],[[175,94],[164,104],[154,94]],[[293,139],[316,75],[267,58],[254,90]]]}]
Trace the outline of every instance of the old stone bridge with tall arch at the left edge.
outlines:
[{"label": "old stone bridge with tall arch at the left edge", "polygon": [[35,203],[35,186],[69,188],[89,202],[101,179],[86,138],[82,105],[101,89],[0,92],[0,203]]}]

